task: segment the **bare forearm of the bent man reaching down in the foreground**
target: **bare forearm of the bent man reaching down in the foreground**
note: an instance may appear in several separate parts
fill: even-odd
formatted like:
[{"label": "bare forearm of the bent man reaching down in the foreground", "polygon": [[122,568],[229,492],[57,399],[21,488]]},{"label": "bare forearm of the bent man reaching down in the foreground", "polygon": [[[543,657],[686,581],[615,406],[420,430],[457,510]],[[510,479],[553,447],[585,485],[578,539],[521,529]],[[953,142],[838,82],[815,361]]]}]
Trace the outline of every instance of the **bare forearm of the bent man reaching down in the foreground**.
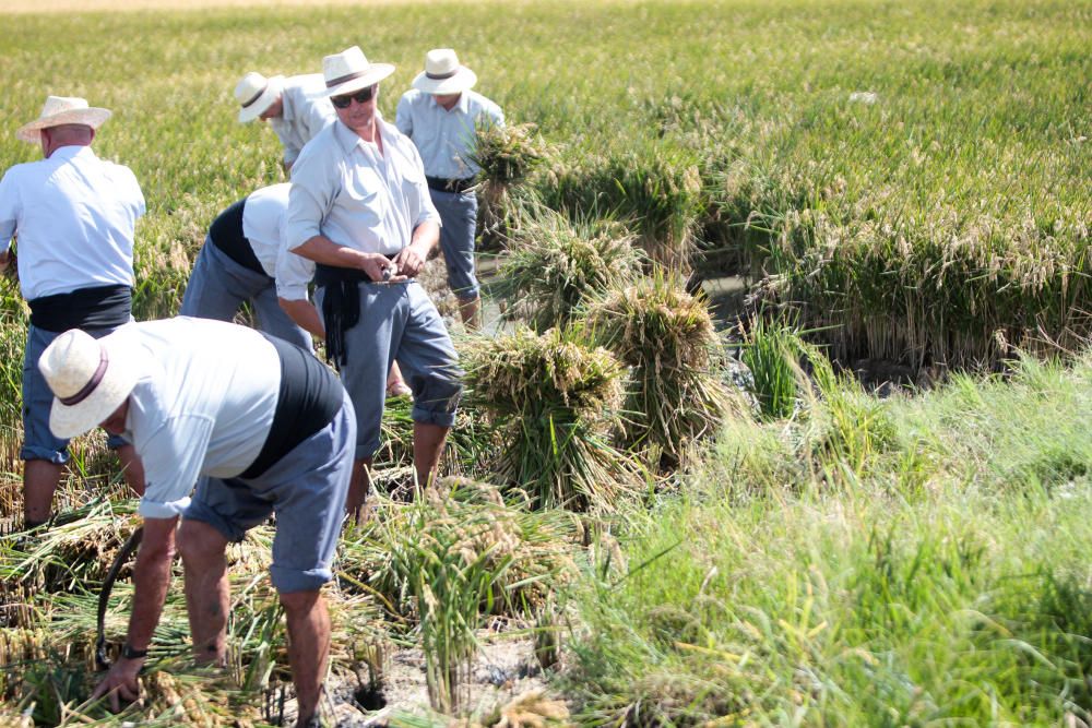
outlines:
[{"label": "bare forearm of the bent man reaching down in the foreground", "polygon": [[129,617],[129,645],[147,649],[170,586],[178,518],[146,518],[144,538],[133,568],[133,610]]}]

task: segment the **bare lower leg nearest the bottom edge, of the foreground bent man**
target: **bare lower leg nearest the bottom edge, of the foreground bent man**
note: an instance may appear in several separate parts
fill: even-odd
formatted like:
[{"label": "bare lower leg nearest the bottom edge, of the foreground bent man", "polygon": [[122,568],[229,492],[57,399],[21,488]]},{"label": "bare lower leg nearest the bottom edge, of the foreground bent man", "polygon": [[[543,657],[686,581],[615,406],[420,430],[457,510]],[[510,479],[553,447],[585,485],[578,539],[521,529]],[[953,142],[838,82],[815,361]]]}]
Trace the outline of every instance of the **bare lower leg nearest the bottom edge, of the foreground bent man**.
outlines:
[{"label": "bare lower leg nearest the bottom edge, of the foreground bent man", "polygon": [[314,715],[322,694],[330,655],[330,614],[318,589],[282,594],[281,604],[288,622],[288,663],[299,706],[296,725],[304,726]]}]

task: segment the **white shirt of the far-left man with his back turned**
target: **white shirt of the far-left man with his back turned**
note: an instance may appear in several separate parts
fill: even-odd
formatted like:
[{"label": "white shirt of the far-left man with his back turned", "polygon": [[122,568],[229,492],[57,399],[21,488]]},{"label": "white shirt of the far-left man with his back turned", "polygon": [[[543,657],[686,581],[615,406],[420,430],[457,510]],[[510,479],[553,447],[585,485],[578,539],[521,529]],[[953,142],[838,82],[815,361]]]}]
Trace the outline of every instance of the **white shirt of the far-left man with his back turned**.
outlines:
[{"label": "white shirt of the far-left man with his back turned", "polygon": [[0,251],[19,239],[27,300],[78,288],[133,285],[133,234],[144,194],[129,167],[90,146],[62,146],[0,180]]}]

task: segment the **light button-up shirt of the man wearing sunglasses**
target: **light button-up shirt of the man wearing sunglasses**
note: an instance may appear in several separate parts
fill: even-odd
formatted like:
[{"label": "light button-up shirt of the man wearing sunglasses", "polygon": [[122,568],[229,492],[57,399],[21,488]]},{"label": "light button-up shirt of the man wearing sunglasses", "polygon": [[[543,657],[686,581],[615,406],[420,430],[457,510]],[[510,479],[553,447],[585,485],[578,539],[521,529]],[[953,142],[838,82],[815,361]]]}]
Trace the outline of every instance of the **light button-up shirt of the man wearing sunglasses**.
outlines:
[{"label": "light button-up shirt of the man wearing sunglasses", "polygon": [[383,154],[336,121],[292,167],[285,241],[295,250],[317,235],[366,253],[393,255],[418,225],[440,225],[413,142],[377,118]]}]

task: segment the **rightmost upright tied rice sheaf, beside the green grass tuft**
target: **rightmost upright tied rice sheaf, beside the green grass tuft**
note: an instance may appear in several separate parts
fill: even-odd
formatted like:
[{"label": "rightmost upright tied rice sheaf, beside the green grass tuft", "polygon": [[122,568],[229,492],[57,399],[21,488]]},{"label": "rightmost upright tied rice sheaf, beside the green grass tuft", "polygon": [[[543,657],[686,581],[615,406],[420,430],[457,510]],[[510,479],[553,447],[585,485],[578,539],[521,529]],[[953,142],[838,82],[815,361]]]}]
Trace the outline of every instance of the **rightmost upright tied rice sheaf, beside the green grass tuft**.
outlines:
[{"label": "rightmost upright tied rice sheaf, beside the green grass tuft", "polygon": [[729,407],[713,374],[717,338],[705,301],[677,275],[655,272],[589,308],[592,335],[629,368],[624,442],[678,465],[715,433]]}]

